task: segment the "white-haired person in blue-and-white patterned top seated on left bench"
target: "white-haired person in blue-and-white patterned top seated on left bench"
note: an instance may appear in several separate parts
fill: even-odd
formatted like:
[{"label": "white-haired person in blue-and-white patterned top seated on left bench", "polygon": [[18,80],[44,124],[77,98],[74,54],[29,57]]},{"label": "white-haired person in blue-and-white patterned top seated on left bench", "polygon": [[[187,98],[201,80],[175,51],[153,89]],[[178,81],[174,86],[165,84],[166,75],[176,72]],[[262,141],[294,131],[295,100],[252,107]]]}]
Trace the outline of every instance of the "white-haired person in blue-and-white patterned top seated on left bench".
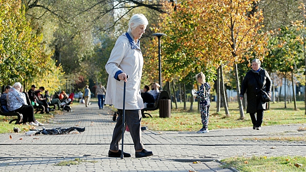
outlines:
[{"label": "white-haired person in blue-and-white patterned top seated on left bench", "polygon": [[20,92],[21,84],[15,83],[7,93],[7,109],[10,112],[18,112],[23,115],[23,124],[29,122],[30,125],[44,125],[38,122],[34,117],[34,108],[27,104],[25,94]]}]

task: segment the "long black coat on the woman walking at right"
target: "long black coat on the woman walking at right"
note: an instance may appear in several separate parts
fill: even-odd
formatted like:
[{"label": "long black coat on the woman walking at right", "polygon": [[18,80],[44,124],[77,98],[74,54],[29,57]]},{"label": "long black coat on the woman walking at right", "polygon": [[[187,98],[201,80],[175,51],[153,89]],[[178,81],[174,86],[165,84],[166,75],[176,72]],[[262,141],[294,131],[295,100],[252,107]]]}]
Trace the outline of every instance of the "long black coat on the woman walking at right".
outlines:
[{"label": "long black coat on the woman walking at right", "polygon": [[[259,82],[259,86],[257,81]],[[260,68],[259,72],[254,70],[248,71],[240,90],[240,97],[243,97],[246,91],[246,113],[256,113],[257,110],[266,110],[267,103],[261,100],[261,88],[267,93],[271,93],[272,85],[268,72],[262,68]]]}]

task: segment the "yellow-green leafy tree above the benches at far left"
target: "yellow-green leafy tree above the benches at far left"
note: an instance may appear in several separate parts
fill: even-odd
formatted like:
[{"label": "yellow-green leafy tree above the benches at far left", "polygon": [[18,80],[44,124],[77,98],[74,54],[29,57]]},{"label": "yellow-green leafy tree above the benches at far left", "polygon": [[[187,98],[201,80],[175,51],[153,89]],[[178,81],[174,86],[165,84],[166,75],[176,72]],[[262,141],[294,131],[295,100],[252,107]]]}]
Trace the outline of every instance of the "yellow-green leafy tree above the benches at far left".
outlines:
[{"label": "yellow-green leafy tree above the benches at far left", "polygon": [[46,83],[60,85],[52,78],[62,75],[61,67],[51,66],[51,54],[44,51],[43,35],[32,30],[21,1],[1,0],[0,15],[0,82],[33,83],[47,75],[50,80]]}]

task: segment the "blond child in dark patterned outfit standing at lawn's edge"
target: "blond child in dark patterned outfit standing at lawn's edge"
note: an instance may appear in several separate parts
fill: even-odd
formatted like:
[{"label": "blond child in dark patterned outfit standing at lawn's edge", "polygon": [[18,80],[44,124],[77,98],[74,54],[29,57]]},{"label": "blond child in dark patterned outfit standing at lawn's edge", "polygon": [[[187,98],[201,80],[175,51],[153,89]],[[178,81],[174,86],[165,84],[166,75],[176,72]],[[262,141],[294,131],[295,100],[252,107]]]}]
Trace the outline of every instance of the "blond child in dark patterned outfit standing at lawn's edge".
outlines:
[{"label": "blond child in dark patterned outfit standing at lawn's edge", "polygon": [[199,84],[201,84],[200,89],[197,92],[197,99],[200,103],[201,122],[203,125],[202,128],[197,131],[197,133],[209,133],[209,108],[211,106],[209,94],[211,86],[206,82],[206,77],[203,72],[196,75],[196,80]]}]

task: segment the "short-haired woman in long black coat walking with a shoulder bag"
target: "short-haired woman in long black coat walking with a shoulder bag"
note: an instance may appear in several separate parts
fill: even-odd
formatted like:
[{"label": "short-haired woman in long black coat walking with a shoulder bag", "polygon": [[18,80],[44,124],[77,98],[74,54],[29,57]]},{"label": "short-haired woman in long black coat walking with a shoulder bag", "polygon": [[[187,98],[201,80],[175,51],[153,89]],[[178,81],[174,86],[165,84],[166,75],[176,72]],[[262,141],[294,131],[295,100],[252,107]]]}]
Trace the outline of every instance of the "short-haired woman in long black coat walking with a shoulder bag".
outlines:
[{"label": "short-haired woman in long black coat walking with a shoulder bag", "polygon": [[260,67],[260,60],[255,58],[252,60],[252,69],[245,75],[240,90],[240,99],[242,100],[246,91],[247,107],[246,113],[249,113],[253,123],[253,129],[260,130],[264,111],[267,102],[261,100],[261,91],[263,88],[271,97],[271,79],[266,70]]}]

